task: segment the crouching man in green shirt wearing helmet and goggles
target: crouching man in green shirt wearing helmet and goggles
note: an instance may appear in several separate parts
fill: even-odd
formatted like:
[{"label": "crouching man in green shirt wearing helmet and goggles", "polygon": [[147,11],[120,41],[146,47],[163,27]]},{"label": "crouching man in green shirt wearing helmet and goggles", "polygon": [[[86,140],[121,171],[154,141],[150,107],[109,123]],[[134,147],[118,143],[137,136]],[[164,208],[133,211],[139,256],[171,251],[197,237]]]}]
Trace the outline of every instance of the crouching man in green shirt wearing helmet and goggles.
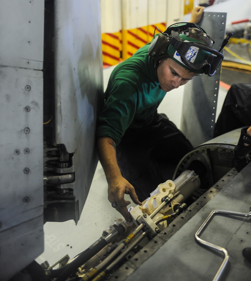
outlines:
[{"label": "crouching man in green shirt wearing helmet and goggles", "polygon": [[99,115],[97,147],[108,182],[108,200],[126,220],[129,194],[136,204],[165,182],[162,164],[176,166],[193,148],[157,108],[166,92],[205,73],[212,76],[223,55],[199,26],[179,23],[157,35],[112,72]]}]

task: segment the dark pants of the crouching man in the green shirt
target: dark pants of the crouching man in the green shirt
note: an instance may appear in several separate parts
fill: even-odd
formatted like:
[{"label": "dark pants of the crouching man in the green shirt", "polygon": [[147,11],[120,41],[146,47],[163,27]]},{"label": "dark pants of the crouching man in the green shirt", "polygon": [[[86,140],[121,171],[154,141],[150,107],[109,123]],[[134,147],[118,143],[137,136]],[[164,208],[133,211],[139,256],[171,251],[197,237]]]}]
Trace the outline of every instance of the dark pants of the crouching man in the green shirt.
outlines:
[{"label": "dark pants of the crouching man in the green shirt", "polygon": [[192,149],[175,124],[156,112],[150,126],[127,129],[117,146],[117,161],[122,175],[143,201],[160,183],[172,179],[175,167]]}]

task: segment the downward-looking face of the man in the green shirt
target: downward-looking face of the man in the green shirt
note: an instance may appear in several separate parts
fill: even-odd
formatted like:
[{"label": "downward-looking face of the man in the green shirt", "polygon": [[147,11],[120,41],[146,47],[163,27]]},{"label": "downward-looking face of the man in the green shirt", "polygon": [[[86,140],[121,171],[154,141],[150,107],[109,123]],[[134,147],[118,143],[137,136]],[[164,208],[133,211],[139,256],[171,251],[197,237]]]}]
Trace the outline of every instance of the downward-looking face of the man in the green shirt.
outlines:
[{"label": "downward-looking face of the man in the green shirt", "polygon": [[161,89],[169,92],[192,80],[196,73],[188,71],[171,58],[167,58],[159,61],[157,75]]}]

